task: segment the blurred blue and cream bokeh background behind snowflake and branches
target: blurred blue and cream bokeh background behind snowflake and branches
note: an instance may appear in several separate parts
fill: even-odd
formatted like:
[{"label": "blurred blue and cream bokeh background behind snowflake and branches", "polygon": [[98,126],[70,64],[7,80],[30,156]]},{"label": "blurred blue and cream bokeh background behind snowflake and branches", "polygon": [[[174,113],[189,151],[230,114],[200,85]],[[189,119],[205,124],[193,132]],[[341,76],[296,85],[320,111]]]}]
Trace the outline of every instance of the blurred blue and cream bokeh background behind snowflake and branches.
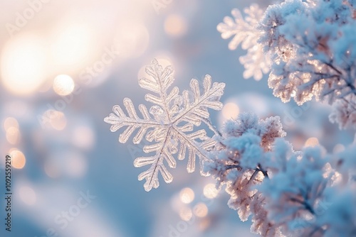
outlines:
[{"label": "blurred blue and cream bokeh background behind snowflake and branches", "polygon": [[[268,1],[254,1],[266,6]],[[118,143],[104,123],[130,97],[147,104],[137,78],[155,57],[173,65],[175,85],[209,74],[225,82],[221,128],[241,111],[281,116],[295,149],[339,151],[352,133],[328,121],[328,105],[274,98],[267,76],[243,79],[239,57],[216,25],[251,1],[0,0],[1,220],[5,156],[12,158],[12,229],[0,236],[252,236],[211,177],[188,174],[145,192],[133,160],[141,145]]]}]

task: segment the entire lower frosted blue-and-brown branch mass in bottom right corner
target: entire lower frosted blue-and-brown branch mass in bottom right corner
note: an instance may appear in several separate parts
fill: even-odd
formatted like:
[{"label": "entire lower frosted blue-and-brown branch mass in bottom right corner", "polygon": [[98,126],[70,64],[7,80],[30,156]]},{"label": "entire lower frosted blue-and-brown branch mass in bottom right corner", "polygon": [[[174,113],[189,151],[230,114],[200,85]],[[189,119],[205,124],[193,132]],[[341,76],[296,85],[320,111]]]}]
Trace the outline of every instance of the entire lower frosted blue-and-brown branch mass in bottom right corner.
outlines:
[{"label": "entire lower frosted blue-and-brown branch mass in bottom right corner", "polygon": [[[226,121],[205,169],[261,236],[355,236],[356,143],[335,155],[293,150],[278,117]],[[341,194],[341,195],[340,195]]]}]

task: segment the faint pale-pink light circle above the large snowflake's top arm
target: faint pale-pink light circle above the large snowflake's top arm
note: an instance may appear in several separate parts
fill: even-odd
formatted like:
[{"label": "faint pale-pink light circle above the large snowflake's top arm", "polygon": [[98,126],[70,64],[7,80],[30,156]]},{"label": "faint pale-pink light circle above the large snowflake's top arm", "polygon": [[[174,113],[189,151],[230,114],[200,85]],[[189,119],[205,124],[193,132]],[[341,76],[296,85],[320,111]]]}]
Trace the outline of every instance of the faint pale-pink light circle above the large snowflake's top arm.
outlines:
[{"label": "faint pale-pink light circle above the large snowflake's top arm", "polygon": [[145,53],[150,34],[140,23],[125,23],[117,28],[114,45],[120,57],[139,57]]}]

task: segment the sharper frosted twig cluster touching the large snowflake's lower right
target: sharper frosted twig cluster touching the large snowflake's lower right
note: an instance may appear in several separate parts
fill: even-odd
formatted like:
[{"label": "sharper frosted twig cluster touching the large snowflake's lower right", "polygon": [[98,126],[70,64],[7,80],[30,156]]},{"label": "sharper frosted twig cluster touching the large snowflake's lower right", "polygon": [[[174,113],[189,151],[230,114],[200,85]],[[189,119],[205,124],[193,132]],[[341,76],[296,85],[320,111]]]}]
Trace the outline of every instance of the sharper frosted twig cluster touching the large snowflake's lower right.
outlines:
[{"label": "sharper frosted twig cluster touching the large snowflake's lower right", "polygon": [[253,215],[251,231],[263,236],[279,236],[281,230],[266,219],[264,197],[256,184],[267,177],[268,153],[274,140],[286,136],[280,118],[260,120],[255,114],[242,113],[236,120],[226,121],[218,145],[211,153],[213,162],[205,169],[217,180],[217,186],[226,184],[231,195],[229,206],[238,211],[242,221]]}]

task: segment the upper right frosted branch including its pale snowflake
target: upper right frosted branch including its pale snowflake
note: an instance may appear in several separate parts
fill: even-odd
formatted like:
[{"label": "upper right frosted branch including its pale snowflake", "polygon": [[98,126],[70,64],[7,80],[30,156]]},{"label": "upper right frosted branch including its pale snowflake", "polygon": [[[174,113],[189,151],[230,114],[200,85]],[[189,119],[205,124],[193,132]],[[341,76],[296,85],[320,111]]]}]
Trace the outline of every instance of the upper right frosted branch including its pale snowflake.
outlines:
[{"label": "upper right frosted branch including its pale snowflake", "polygon": [[355,6],[354,0],[286,0],[262,14],[253,4],[245,10],[246,21],[234,9],[235,21],[224,18],[218,31],[223,38],[235,35],[231,50],[239,43],[248,49],[240,57],[244,77],[258,79],[271,70],[268,86],[274,96],[298,105],[313,98],[328,101],[336,107],[331,121],[340,128],[355,127],[352,115],[345,117],[352,114],[356,95]]}]

